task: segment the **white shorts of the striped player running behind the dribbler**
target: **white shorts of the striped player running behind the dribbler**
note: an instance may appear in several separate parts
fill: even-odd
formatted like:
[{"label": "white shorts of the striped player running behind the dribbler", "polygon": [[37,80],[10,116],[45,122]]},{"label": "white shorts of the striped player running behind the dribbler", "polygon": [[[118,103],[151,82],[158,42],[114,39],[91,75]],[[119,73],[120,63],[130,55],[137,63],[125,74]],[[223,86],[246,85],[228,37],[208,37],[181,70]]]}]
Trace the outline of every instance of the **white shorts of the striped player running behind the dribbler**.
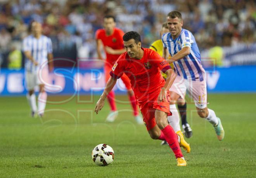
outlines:
[{"label": "white shorts of the striped player running behind the dribbler", "polygon": [[194,100],[195,106],[204,109],[207,107],[206,81],[192,81],[176,76],[173,85],[169,89],[185,99],[186,91],[190,98]]}]

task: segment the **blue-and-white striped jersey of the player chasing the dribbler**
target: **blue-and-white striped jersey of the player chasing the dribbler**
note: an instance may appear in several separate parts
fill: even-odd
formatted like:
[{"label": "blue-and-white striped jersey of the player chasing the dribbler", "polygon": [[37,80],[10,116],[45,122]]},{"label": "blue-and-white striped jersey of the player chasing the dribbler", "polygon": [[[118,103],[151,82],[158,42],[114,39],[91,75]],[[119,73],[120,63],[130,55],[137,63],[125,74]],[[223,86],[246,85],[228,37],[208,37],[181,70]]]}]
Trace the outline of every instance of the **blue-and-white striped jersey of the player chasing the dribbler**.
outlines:
[{"label": "blue-and-white striped jersey of the player chasing the dribbler", "polygon": [[184,79],[192,81],[203,81],[205,76],[204,68],[201,64],[201,55],[195,37],[189,30],[182,29],[178,38],[173,40],[171,33],[165,33],[162,36],[163,45],[168,48],[171,56],[178,53],[184,47],[190,47],[190,54],[183,59],[173,62],[174,71]]}]

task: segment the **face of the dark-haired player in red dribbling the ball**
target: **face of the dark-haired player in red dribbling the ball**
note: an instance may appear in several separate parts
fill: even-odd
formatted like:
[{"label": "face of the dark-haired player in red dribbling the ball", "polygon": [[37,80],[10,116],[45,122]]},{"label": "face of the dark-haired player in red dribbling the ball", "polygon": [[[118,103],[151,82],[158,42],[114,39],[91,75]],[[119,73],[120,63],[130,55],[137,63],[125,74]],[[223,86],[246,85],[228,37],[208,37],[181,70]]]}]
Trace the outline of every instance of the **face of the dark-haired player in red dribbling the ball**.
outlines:
[{"label": "face of the dark-haired player in red dribbling the ball", "polygon": [[135,43],[134,39],[124,41],[125,50],[130,58],[136,58],[139,55],[141,42]]}]

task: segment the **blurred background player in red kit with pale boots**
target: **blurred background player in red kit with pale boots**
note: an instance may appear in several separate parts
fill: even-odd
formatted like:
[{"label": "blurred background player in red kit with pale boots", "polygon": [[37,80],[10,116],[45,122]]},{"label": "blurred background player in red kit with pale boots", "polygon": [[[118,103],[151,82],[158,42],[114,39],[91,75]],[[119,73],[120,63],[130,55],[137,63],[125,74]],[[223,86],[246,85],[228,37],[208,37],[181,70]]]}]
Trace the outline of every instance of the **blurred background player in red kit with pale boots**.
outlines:
[{"label": "blurred background player in red kit with pale boots", "polygon": [[[104,50],[106,52],[106,60],[105,60],[105,79],[106,83],[110,78],[109,72],[113,64],[118,59],[119,55],[125,52],[124,44],[123,44],[123,35],[124,32],[121,29],[115,28],[116,20],[113,16],[105,16],[104,17],[104,29],[99,29],[96,31],[96,42],[97,42],[97,53],[99,59],[104,60],[100,53],[101,44],[104,46]],[[134,93],[131,89],[130,79],[123,75],[121,80],[126,86],[127,93],[129,95],[129,99],[131,102],[131,106],[133,108],[133,115],[138,124],[143,124],[142,118],[140,117],[137,111],[136,99]],[[107,95],[107,99],[109,101],[109,105],[111,107],[111,112],[107,116],[106,121],[113,122],[118,116],[118,111],[116,109],[116,103],[114,101],[115,95],[114,92],[111,91]]]}]

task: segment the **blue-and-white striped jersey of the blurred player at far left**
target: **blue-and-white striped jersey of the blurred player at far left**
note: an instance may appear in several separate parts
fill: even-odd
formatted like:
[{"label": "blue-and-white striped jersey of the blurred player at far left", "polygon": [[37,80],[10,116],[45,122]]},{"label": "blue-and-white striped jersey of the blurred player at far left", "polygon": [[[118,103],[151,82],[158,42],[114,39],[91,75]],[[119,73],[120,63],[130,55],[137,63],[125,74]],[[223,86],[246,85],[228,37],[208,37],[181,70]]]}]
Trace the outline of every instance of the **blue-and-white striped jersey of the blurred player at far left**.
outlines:
[{"label": "blue-and-white striped jersey of the blurred player at far left", "polygon": [[38,65],[33,65],[32,61],[25,60],[25,70],[36,72],[43,63],[47,63],[47,54],[52,53],[52,41],[47,36],[41,35],[39,39],[29,35],[23,40],[23,51],[30,51]]}]

